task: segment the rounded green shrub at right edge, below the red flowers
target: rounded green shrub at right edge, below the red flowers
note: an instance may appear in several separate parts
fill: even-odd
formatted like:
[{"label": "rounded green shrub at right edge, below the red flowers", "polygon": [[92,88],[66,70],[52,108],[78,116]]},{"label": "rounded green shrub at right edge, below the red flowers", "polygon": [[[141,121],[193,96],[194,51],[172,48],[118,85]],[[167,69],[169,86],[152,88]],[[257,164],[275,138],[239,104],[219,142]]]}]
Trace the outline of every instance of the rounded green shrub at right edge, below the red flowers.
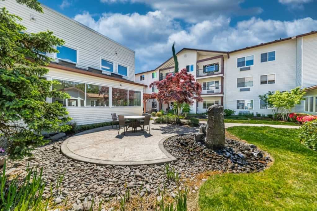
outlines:
[{"label": "rounded green shrub at right edge, below the red flowers", "polygon": [[299,129],[301,143],[308,148],[317,151],[317,119],[305,122]]}]

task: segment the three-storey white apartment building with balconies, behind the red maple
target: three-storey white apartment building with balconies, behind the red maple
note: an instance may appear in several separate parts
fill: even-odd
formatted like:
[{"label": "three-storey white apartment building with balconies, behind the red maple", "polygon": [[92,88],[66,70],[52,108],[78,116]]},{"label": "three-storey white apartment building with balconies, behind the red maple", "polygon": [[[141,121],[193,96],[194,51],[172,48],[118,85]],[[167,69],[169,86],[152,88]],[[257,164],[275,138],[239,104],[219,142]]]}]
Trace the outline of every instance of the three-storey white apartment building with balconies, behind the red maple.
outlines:
[{"label": "three-storey white apartment building with balconies, behind the red maple", "polygon": [[[183,48],[177,56],[179,69],[186,68],[202,85],[204,101],[192,105],[192,113],[204,113],[210,105],[220,104],[236,114],[253,112],[267,115],[271,109],[261,102],[259,95],[300,86],[307,88],[307,94],[294,112],[317,114],[316,31],[229,52]],[[136,74],[136,82],[149,85],[173,71],[171,57],[154,70]],[[140,80],[149,75],[157,77]],[[155,90],[147,89],[146,93],[152,91]],[[146,110],[156,108],[165,111],[168,106],[147,103]]]}]

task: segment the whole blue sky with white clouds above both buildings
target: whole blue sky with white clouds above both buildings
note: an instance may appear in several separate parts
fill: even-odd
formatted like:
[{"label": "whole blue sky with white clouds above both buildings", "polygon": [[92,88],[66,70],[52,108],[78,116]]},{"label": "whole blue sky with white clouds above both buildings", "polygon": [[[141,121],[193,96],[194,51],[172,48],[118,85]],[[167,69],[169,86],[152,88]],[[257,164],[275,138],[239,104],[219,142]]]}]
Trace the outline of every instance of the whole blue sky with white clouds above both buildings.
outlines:
[{"label": "whole blue sky with white clouds above both buildings", "polygon": [[316,0],[39,0],[136,51],[136,73],[176,50],[234,50],[317,30]]}]

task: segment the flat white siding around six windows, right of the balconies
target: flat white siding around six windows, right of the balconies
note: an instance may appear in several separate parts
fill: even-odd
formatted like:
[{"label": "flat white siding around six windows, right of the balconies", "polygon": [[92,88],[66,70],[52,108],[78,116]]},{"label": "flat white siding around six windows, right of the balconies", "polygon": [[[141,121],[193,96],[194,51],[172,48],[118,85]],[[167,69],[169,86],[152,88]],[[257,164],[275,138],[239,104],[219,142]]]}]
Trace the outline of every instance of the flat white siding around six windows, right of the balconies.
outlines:
[{"label": "flat white siding around six windows, right of the balconies", "polygon": [[[275,50],[275,61],[260,63],[260,54]],[[254,55],[254,66],[251,70],[240,71],[237,68],[237,58],[243,56]],[[260,85],[260,75],[276,74],[275,84]],[[249,92],[240,92],[236,87],[237,78],[254,77],[254,86],[250,87]],[[265,94],[268,91],[284,91],[295,87],[296,82],[296,40],[288,40],[277,42],[275,44],[265,45],[258,48],[250,48],[243,51],[230,54],[230,59],[227,60],[226,75],[225,75],[225,108],[236,111],[236,114],[241,110],[236,109],[236,100],[253,99],[253,110],[256,112],[269,114],[270,109],[260,109],[259,94]]]}]

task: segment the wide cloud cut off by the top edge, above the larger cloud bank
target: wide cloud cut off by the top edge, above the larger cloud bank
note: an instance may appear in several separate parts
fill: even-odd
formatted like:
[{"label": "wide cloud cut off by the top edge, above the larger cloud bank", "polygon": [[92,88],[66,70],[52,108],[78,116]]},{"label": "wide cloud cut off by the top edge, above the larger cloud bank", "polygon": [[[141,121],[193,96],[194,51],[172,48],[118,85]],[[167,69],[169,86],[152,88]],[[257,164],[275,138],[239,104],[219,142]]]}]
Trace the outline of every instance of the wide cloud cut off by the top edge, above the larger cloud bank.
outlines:
[{"label": "wide cloud cut off by the top edge, above the larger cloud bank", "polygon": [[103,3],[127,2],[145,3],[154,10],[172,18],[183,19],[186,22],[197,23],[218,16],[255,15],[262,12],[260,7],[243,9],[240,3],[244,0],[100,0]]}]

